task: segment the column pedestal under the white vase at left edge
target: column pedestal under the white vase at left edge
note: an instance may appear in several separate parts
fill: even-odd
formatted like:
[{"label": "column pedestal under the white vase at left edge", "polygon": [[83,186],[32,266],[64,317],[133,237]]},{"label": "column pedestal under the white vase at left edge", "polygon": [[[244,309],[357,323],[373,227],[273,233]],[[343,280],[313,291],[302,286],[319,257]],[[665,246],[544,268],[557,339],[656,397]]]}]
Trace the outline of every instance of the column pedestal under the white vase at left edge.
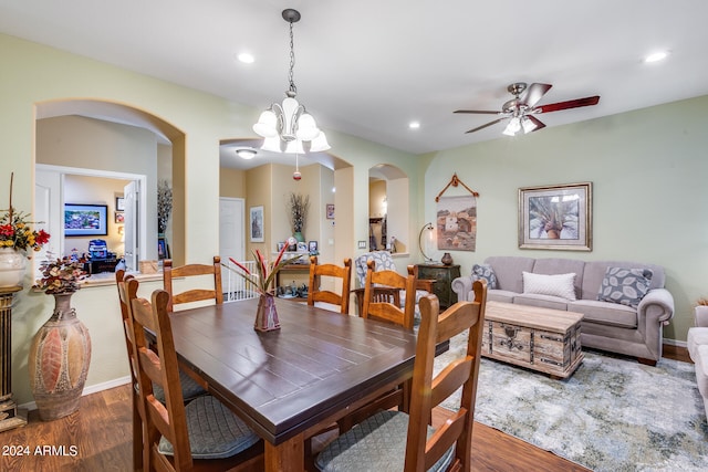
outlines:
[{"label": "column pedestal under the white vase at left edge", "polygon": [[19,411],[12,399],[12,301],[14,294],[21,290],[21,286],[0,289],[0,431],[27,424],[27,413]]}]

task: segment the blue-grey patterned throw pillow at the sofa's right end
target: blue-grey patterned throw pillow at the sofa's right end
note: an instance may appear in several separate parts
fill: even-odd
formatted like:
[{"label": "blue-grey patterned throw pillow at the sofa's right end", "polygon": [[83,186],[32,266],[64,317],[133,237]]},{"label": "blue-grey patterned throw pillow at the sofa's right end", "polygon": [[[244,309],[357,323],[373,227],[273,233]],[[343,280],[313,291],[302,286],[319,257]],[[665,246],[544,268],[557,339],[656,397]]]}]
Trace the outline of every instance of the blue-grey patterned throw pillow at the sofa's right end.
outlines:
[{"label": "blue-grey patterned throw pillow at the sofa's right end", "polygon": [[653,276],[649,269],[607,268],[597,300],[636,308],[649,291]]}]

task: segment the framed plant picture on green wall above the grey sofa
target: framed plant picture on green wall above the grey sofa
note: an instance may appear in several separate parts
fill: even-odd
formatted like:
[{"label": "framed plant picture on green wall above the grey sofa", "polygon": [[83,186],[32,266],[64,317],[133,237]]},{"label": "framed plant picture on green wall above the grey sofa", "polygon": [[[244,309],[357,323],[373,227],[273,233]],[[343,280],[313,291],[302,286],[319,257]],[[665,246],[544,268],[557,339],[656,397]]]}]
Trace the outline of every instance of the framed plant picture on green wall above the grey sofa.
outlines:
[{"label": "framed plant picture on green wall above the grey sofa", "polygon": [[519,248],[592,251],[592,182],[519,189]]}]

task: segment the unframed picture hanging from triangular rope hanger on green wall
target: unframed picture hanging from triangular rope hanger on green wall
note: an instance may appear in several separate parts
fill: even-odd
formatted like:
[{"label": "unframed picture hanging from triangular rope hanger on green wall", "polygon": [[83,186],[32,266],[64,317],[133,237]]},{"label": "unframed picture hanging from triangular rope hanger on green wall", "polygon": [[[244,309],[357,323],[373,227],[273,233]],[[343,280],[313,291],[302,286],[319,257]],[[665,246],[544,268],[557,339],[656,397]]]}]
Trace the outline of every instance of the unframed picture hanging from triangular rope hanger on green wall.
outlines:
[{"label": "unframed picture hanging from triangular rope hanger on green wall", "polygon": [[[450,187],[465,187],[469,196],[442,197]],[[439,250],[475,251],[477,247],[477,197],[479,193],[452,175],[450,181],[435,198],[437,202],[436,230]]]}]

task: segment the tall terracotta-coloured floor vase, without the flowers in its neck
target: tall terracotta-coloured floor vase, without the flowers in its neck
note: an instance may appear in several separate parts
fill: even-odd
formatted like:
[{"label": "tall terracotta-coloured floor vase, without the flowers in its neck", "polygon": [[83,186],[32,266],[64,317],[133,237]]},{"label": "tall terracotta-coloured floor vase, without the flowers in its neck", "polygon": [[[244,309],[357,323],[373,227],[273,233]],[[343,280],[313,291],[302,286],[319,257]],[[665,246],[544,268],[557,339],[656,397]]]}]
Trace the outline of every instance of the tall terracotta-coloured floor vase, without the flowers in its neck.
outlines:
[{"label": "tall terracotta-coloured floor vase, without the flowers in its neck", "polygon": [[91,337],[71,307],[72,295],[54,294],[54,313],[30,347],[30,387],[43,421],[79,409],[88,373]]}]

